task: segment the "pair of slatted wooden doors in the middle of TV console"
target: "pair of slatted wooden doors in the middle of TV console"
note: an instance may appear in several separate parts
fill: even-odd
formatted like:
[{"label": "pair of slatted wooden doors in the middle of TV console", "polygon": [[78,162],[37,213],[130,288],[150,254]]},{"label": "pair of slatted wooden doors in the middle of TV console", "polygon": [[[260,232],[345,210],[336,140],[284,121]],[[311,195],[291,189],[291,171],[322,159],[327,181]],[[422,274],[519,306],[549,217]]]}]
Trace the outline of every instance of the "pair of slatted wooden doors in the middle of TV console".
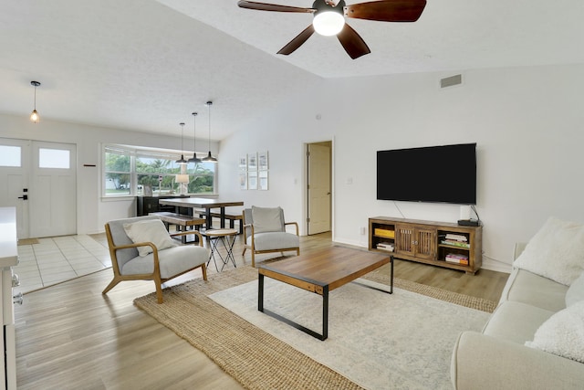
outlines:
[{"label": "pair of slatted wooden doors in the middle of TV console", "polygon": [[432,227],[415,227],[396,225],[395,251],[416,258],[436,257],[436,229]]}]

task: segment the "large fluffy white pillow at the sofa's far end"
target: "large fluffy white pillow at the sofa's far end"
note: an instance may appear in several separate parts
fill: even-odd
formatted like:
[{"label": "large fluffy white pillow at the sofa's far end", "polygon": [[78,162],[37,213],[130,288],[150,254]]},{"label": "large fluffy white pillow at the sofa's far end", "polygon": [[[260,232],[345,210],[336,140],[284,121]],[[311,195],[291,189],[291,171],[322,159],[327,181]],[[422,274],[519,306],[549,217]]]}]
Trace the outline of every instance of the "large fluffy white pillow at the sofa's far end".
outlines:
[{"label": "large fluffy white pillow at the sofa's far end", "polygon": [[584,226],[550,217],[513,265],[569,286],[584,270]]}]

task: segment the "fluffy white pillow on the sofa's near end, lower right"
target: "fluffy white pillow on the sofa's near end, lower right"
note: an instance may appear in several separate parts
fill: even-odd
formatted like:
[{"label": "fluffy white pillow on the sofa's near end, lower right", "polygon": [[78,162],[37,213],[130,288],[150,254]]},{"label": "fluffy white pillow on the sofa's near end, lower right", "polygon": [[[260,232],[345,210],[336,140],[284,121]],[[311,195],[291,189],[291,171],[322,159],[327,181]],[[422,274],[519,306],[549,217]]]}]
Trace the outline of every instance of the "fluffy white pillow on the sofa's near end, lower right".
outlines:
[{"label": "fluffy white pillow on the sofa's near end, lower right", "polygon": [[584,363],[584,300],[551,316],[526,345]]}]

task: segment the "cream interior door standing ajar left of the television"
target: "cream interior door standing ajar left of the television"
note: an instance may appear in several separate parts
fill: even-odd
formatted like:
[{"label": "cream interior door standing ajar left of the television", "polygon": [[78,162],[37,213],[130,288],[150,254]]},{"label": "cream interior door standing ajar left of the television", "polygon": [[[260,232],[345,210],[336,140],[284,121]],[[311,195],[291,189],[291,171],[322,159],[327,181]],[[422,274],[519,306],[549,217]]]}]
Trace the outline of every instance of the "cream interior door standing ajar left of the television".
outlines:
[{"label": "cream interior door standing ajar left of the television", "polygon": [[308,234],[330,230],[331,142],[308,144]]}]

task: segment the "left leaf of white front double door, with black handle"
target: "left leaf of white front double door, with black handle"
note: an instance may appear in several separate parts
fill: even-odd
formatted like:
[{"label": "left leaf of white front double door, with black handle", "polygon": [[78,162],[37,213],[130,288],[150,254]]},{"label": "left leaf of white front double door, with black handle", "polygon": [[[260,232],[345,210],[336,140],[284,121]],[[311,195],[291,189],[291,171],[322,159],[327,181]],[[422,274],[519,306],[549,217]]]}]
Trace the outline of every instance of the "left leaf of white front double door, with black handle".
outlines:
[{"label": "left leaf of white front double door, with black handle", "polygon": [[16,207],[18,238],[28,238],[30,142],[0,138],[0,206]]}]

